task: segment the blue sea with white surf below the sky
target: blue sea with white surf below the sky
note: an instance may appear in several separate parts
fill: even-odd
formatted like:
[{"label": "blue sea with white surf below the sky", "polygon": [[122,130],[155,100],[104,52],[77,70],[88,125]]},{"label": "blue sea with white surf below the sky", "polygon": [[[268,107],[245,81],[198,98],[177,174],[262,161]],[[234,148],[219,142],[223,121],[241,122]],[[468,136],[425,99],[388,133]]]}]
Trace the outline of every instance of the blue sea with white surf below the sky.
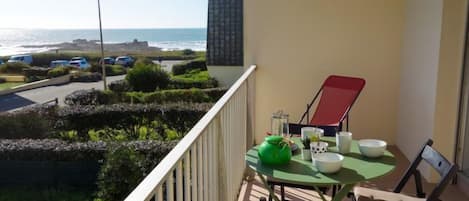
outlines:
[{"label": "blue sea with white surf below the sky", "polygon": [[[24,48],[23,45],[45,45],[72,42],[75,39],[99,40],[98,29],[0,29],[0,56],[37,53],[47,48]],[[205,28],[178,29],[104,29],[104,43],[148,41],[163,50],[192,49],[204,51]]]}]

